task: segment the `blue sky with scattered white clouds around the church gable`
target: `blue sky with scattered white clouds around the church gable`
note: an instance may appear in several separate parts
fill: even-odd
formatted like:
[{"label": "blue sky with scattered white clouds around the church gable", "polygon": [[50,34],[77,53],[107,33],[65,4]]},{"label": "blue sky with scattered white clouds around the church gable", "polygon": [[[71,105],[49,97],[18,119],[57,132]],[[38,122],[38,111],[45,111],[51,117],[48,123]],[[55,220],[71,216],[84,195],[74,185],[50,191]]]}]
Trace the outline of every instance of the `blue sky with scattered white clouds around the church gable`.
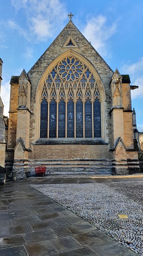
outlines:
[{"label": "blue sky with scattered white clouds around the church gable", "polygon": [[64,26],[67,15],[120,74],[129,74],[132,108],[143,127],[143,0],[0,0],[1,98],[8,115],[11,75],[34,65]]}]

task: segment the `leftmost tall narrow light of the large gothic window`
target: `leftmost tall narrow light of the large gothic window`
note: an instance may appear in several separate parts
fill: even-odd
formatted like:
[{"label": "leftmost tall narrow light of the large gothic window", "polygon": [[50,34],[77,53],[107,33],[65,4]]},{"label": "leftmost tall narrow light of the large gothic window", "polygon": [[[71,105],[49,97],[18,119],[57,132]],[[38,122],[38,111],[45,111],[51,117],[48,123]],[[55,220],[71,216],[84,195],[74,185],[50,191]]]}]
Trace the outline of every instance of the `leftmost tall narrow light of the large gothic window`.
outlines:
[{"label": "leftmost tall narrow light of the large gothic window", "polygon": [[42,100],[40,108],[40,138],[47,137],[47,113],[48,113],[48,104],[46,100]]}]

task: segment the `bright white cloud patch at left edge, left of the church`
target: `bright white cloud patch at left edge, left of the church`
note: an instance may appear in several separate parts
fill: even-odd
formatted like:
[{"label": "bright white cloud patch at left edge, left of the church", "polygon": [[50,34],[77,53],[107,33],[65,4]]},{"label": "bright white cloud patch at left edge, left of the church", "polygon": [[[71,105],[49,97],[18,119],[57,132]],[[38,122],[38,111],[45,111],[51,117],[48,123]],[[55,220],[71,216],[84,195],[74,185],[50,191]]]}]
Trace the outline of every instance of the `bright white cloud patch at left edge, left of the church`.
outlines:
[{"label": "bright white cloud patch at left edge, left of the church", "polygon": [[4,104],[4,115],[9,116],[10,81],[1,85],[0,96]]}]

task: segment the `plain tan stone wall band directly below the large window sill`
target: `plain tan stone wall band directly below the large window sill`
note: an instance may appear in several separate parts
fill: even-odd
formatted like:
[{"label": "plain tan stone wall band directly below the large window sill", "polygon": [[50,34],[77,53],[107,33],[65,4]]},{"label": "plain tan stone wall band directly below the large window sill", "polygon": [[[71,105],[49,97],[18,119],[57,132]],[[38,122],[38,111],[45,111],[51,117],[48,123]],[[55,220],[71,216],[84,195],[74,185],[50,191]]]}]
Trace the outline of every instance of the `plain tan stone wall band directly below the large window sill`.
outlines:
[{"label": "plain tan stone wall band directly below the large window sill", "polygon": [[109,145],[33,145],[31,159],[111,159]]}]

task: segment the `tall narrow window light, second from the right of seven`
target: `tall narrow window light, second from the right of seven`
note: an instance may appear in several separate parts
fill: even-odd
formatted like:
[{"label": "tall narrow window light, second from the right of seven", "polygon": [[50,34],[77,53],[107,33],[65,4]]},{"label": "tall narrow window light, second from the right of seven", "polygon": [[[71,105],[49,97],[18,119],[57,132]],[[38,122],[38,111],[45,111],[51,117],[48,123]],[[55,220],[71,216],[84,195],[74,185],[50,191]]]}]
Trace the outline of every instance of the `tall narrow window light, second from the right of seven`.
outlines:
[{"label": "tall narrow window light, second from the right of seven", "polygon": [[85,102],[85,137],[92,137],[92,103],[90,100]]}]

